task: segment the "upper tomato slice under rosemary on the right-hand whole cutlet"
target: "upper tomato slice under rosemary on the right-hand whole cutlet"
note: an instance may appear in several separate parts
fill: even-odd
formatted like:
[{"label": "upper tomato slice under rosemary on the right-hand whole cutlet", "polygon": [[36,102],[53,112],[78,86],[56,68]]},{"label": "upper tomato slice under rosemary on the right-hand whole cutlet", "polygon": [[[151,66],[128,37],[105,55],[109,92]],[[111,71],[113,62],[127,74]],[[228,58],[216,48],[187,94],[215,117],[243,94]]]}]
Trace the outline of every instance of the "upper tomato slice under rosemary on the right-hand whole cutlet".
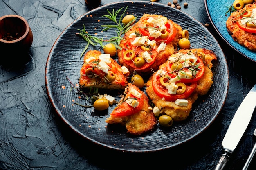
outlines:
[{"label": "upper tomato slice under rosemary on the right-hand whole cutlet", "polygon": [[[195,56],[197,57],[196,63],[199,64],[198,69],[194,68],[196,70],[196,75],[194,77],[190,78],[190,79],[181,78],[179,82],[189,83],[189,82],[198,81],[204,75],[204,62],[202,61],[202,59],[200,57],[198,57],[197,55],[195,55]],[[167,72],[172,73],[173,75],[175,75],[175,73],[171,70],[172,65],[173,65],[173,63],[171,61],[167,60],[166,70],[167,70]],[[184,71],[187,70],[187,69],[188,68],[183,68]],[[175,76],[177,76],[177,75],[175,75]]]}]

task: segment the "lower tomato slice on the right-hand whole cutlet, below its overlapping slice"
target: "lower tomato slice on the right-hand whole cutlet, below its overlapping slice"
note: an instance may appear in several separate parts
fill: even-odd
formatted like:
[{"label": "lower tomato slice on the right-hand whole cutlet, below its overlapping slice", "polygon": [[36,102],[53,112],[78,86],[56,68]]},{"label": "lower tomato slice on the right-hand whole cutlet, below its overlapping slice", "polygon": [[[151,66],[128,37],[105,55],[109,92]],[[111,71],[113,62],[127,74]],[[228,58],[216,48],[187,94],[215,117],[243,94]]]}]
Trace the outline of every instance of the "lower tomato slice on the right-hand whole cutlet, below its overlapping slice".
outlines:
[{"label": "lower tomato slice on the right-hand whole cutlet, below its overlapping slice", "polygon": [[186,91],[183,94],[169,94],[168,89],[164,87],[160,83],[160,76],[158,74],[153,74],[152,78],[152,87],[154,92],[160,98],[164,98],[166,101],[175,102],[177,99],[185,99],[188,98],[195,90],[197,86],[197,82],[185,83],[186,84]]}]

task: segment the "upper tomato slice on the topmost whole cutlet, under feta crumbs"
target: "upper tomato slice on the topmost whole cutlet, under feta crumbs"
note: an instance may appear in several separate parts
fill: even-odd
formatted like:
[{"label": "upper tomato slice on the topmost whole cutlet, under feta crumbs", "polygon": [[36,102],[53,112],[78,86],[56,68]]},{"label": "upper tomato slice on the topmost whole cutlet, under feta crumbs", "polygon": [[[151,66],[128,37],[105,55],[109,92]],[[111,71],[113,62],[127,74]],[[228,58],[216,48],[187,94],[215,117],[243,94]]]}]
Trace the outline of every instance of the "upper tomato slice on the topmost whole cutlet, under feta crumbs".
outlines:
[{"label": "upper tomato slice on the topmost whole cutlet, under feta crumbs", "polygon": [[[147,24],[148,26],[150,26],[151,24],[147,22],[147,20],[150,18],[150,17],[153,17],[154,19],[158,19],[158,17],[155,17],[155,16],[147,16],[147,17],[143,17],[139,20],[138,22],[138,29],[139,29],[139,32],[144,35],[144,36],[149,36],[150,33],[148,32],[148,28],[145,28],[145,24]],[[176,28],[174,27],[173,25],[173,21],[172,20],[167,20],[167,23],[165,24],[166,26],[166,31],[169,33],[168,34],[168,37],[166,37],[165,39],[161,39],[161,38],[154,38],[154,37],[149,37],[148,39],[150,40],[155,40],[156,43],[158,42],[162,42],[164,41],[166,44],[170,43],[171,41],[173,41],[173,39],[175,38],[176,36]]]}]

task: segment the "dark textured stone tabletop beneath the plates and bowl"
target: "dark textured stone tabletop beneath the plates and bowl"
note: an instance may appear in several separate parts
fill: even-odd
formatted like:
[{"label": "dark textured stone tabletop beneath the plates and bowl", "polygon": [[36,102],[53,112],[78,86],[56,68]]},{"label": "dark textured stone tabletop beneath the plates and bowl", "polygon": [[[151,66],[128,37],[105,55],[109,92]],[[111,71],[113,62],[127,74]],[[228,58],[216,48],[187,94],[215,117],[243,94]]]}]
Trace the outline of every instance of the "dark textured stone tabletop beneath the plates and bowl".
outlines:
[{"label": "dark textured stone tabletop beneath the plates and bowl", "polygon": [[[102,0],[101,5],[111,2],[116,1]],[[187,8],[183,8],[184,2],[189,4]],[[24,60],[17,62],[0,54],[0,169],[213,169],[232,117],[256,83],[256,63],[236,53],[220,38],[209,22],[203,0],[179,3],[182,11],[209,24],[207,28],[227,58],[229,92],[225,105],[206,131],[182,146],[154,153],[125,153],[95,145],[74,133],[56,115],[45,89],[45,64],[54,41],[71,22],[93,8],[84,0],[1,0],[0,16],[17,14],[27,19],[34,39],[29,54],[19,56]],[[256,142],[255,122],[253,115],[226,169],[243,168]],[[253,159],[249,169],[255,167]]]}]

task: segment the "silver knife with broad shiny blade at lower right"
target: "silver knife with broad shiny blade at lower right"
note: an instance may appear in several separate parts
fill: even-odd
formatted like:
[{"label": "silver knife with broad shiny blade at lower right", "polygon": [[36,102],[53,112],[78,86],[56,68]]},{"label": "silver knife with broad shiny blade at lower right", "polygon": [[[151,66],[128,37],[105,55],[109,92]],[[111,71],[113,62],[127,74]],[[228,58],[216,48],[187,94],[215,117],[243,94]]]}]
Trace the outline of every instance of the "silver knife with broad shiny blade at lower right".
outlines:
[{"label": "silver knife with broad shiny blade at lower right", "polygon": [[244,98],[241,105],[238,107],[224,139],[221,143],[223,146],[222,155],[216,165],[215,170],[223,170],[229,157],[235,150],[240,139],[242,138],[247,126],[252,118],[252,113],[254,112],[256,105],[256,85],[252,87],[250,92]]}]

